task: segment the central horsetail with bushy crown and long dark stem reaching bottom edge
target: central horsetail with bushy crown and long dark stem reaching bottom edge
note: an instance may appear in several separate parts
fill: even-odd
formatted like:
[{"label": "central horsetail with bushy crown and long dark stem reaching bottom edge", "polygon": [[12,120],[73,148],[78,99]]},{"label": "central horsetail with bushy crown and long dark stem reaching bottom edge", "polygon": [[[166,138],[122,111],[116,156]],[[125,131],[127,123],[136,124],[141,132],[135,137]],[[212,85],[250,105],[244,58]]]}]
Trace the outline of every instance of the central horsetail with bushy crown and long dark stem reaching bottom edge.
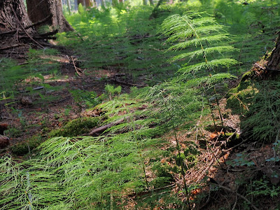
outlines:
[{"label": "central horsetail with bushy crown and long dark stem reaching bottom edge", "polygon": [[183,179],[183,188],[186,190],[185,207],[190,207],[189,189],[186,184],[186,166],[183,153],[181,153],[181,143],[177,135],[177,131],[181,128],[191,129],[195,126],[195,119],[200,118],[202,97],[200,91],[189,87],[186,83],[178,85],[174,81],[169,81],[146,87],[138,94],[139,98],[146,99],[154,104],[154,110],[150,114],[151,119],[155,119],[158,127],[165,132],[172,131],[174,140],[176,141],[177,157],[179,157],[179,167],[181,168],[181,176]]}]

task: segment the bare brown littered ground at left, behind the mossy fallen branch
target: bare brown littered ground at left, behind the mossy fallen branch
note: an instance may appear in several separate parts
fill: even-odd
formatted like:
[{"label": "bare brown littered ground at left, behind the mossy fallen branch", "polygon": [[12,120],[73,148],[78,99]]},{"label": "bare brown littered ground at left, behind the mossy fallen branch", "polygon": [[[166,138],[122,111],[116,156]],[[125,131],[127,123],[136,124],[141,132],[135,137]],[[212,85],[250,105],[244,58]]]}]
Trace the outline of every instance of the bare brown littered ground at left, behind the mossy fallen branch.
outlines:
[{"label": "bare brown littered ground at left, behind the mossy fallen branch", "polygon": [[[70,57],[70,50],[63,49],[64,55],[55,57],[46,56],[45,59],[53,62],[59,62],[60,73],[59,78],[54,78],[52,74],[44,76],[44,83],[51,87],[45,90],[43,86],[34,86],[34,91],[27,92],[26,88],[36,80],[36,78],[22,80],[18,84],[17,94],[13,100],[1,102],[1,124],[8,125],[9,129],[13,128],[12,133],[8,133],[10,137],[10,146],[20,144],[30,139],[35,134],[44,134],[50,130],[61,127],[64,123],[75,118],[80,118],[86,109],[85,104],[75,101],[73,94],[69,90],[94,91],[97,97],[104,93],[106,84],[115,84],[122,86],[122,92],[130,91],[130,83],[132,81],[123,81],[123,84],[116,82],[118,77],[118,69],[113,67],[110,70],[102,69],[85,75],[78,64],[73,62]],[[66,52],[66,54],[65,54]],[[20,59],[19,63],[25,62]],[[78,71],[78,73],[77,73]],[[80,71],[80,72],[79,72]],[[137,80],[143,84],[144,81]],[[125,83],[129,83],[124,85]],[[52,87],[59,87],[58,90]],[[44,94],[45,100],[42,100],[41,94]],[[3,106],[3,104],[12,103],[12,106]],[[4,108],[4,109],[3,109]],[[1,152],[9,153],[7,150]]]}]

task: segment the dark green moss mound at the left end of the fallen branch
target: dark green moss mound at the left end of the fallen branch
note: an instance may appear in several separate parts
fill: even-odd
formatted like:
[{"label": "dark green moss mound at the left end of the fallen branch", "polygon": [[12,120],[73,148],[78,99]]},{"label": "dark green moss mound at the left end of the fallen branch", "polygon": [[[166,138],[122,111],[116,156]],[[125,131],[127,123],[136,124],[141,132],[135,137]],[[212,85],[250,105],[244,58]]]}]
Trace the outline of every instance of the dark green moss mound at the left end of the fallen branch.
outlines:
[{"label": "dark green moss mound at the left end of the fallen branch", "polygon": [[62,128],[52,130],[48,137],[77,137],[86,134],[98,125],[99,118],[78,118],[71,120]]}]

